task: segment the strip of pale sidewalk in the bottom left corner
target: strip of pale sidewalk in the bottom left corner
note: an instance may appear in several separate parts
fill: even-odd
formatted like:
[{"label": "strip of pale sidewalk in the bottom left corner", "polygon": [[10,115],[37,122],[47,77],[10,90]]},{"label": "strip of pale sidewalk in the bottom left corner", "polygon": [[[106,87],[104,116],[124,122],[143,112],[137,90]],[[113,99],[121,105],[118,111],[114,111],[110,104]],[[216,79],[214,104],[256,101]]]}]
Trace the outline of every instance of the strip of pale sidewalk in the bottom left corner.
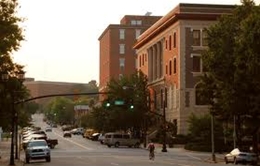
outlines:
[{"label": "strip of pale sidewalk in the bottom left corner", "polygon": [[[10,162],[10,147],[11,147],[11,142],[9,141],[1,141],[0,142],[0,165],[1,166],[9,166]],[[24,162],[15,159],[15,165],[16,166],[23,166]]]}]

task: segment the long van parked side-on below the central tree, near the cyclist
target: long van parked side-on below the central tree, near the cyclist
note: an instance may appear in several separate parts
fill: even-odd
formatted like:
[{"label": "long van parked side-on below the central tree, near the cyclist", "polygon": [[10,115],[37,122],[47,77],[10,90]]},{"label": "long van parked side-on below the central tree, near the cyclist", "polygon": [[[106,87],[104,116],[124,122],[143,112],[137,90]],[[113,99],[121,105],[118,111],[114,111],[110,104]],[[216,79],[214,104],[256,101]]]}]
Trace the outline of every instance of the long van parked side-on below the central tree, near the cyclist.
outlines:
[{"label": "long van parked side-on below the central tree, near the cyclist", "polygon": [[123,133],[106,133],[104,138],[104,144],[108,147],[115,146],[128,146],[139,148],[140,140],[131,138],[129,134]]}]

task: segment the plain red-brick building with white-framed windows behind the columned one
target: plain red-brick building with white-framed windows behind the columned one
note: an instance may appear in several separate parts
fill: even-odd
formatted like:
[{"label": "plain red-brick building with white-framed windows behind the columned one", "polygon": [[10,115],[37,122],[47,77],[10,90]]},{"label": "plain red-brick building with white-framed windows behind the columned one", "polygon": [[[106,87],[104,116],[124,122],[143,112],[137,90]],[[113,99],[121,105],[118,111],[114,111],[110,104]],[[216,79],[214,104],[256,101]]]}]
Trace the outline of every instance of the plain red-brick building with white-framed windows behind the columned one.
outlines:
[{"label": "plain red-brick building with white-framed windows behind the columned one", "polygon": [[[136,71],[136,52],[133,45],[137,38],[161,16],[124,16],[120,24],[110,24],[99,37],[100,78],[99,91],[105,91],[112,79],[120,79]],[[102,100],[102,97],[101,99]]]}]

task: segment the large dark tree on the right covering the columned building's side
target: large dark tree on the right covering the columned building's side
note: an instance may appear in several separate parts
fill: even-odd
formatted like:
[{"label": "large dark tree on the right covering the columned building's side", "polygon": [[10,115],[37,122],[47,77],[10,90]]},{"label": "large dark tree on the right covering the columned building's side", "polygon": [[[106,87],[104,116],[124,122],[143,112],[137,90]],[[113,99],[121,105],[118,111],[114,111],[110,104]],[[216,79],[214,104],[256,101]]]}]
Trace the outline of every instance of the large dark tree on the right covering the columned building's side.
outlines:
[{"label": "large dark tree on the right covering the columned building's side", "polygon": [[[259,129],[259,29],[260,8],[252,0],[243,0],[232,14],[223,15],[207,29],[208,49],[202,55],[207,72],[201,78],[201,94],[209,99],[216,117],[225,121],[236,118],[239,142]],[[244,125],[251,133],[243,133]]]}]

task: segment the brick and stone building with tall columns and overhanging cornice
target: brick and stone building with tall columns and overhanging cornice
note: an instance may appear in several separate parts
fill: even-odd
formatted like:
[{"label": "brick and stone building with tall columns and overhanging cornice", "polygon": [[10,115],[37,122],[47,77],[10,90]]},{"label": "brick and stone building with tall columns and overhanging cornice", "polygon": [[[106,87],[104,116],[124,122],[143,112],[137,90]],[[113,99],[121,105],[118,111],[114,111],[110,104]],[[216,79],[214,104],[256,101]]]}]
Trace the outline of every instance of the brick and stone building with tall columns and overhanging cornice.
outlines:
[{"label": "brick and stone building with tall columns and overhanging cornice", "polygon": [[235,6],[181,3],[147,29],[134,44],[137,69],[148,76],[151,109],[187,134],[191,113],[208,106],[196,93],[203,72],[201,53],[207,48],[205,28],[230,14]]}]

